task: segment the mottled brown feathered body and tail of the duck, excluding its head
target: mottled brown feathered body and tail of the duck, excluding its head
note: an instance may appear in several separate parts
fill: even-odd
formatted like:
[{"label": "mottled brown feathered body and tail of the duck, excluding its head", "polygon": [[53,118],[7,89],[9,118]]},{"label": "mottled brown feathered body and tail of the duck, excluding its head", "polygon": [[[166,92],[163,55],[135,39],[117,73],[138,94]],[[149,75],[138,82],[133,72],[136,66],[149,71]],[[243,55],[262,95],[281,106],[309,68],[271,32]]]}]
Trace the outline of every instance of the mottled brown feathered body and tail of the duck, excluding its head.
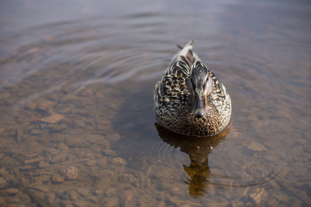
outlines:
[{"label": "mottled brown feathered body and tail of the duck, excluding its head", "polygon": [[[154,110],[159,124],[169,130],[191,136],[215,135],[230,122],[231,99],[222,83],[193,52],[192,45],[188,43],[175,55],[161,81],[157,82]],[[187,87],[188,78],[196,66],[206,67],[213,79],[213,92],[206,100],[206,115],[200,119],[192,113],[193,97]]]}]

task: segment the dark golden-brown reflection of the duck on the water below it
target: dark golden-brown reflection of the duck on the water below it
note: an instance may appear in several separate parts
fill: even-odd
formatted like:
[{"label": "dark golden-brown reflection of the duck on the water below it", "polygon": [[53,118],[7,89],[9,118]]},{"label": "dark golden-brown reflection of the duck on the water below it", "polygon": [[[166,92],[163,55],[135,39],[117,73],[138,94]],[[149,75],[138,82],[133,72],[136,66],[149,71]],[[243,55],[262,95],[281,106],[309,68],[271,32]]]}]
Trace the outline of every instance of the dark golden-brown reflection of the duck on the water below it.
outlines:
[{"label": "dark golden-brown reflection of the duck on the water below it", "polygon": [[222,142],[229,132],[229,127],[212,137],[187,137],[163,128],[155,123],[159,136],[170,146],[180,148],[189,155],[190,166],[184,165],[186,184],[189,185],[191,197],[202,197],[208,189],[208,178],[211,170],[208,167],[208,155]]}]

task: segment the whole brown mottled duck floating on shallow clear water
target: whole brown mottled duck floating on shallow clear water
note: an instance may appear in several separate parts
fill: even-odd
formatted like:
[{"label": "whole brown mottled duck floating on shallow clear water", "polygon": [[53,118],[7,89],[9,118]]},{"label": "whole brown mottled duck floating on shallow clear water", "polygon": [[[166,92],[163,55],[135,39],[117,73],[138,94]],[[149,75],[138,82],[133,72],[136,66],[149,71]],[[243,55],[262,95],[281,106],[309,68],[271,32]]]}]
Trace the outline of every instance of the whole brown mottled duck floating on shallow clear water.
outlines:
[{"label": "whole brown mottled duck floating on shallow clear water", "polygon": [[213,72],[193,52],[181,48],[154,88],[157,122],[182,135],[216,135],[229,125],[231,99]]}]

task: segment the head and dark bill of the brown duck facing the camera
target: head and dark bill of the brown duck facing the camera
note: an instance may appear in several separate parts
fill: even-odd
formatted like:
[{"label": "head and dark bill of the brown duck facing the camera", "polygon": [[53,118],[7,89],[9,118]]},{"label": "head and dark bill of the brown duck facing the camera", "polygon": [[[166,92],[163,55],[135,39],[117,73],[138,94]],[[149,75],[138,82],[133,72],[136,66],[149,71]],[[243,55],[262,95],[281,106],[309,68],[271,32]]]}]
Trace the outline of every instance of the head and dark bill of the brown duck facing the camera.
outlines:
[{"label": "head and dark bill of the brown duck facing the camera", "polygon": [[207,68],[203,66],[193,68],[188,78],[188,90],[193,95],[193,115],[197,118],[204,117],[206,99],[213,91],[213,80],[209,77]]}]

